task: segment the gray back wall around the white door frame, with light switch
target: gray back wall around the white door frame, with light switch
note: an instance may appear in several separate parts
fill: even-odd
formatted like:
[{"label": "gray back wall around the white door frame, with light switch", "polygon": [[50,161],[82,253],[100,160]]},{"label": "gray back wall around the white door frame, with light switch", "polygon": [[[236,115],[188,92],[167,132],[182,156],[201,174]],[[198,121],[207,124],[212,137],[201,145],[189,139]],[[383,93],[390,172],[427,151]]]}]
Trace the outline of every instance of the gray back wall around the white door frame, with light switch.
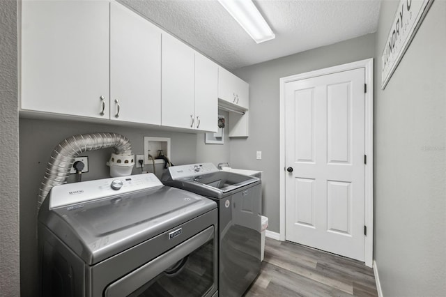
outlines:
[{"label": "gray back wall around the white door frame, with light switch", "polygon": [[[263,215],[279,232],[279,79],[375,56],[375,34],[240,68],[249,82],[249,137],[231,139],[231,165],[263,171]],[[262,151],[262,160],[256,160]]]}]

